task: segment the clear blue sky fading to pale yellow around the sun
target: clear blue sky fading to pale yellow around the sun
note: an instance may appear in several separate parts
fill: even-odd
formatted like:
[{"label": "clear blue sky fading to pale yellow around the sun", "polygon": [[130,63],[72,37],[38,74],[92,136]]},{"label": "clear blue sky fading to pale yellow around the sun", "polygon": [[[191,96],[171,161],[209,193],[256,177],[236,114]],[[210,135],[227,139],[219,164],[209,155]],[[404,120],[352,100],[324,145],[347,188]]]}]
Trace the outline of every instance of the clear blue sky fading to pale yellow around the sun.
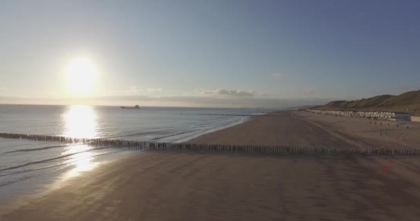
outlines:
[{"label": "clear blue sky fading to pale yellow around the sun", "polygon": [[[420,89],[419,11],[420,1],[385,0],[0,1],[0,103],[278,107],[397,95]],[[95,78],[75,93],[81,79],[68,70],[80,59]]]}]

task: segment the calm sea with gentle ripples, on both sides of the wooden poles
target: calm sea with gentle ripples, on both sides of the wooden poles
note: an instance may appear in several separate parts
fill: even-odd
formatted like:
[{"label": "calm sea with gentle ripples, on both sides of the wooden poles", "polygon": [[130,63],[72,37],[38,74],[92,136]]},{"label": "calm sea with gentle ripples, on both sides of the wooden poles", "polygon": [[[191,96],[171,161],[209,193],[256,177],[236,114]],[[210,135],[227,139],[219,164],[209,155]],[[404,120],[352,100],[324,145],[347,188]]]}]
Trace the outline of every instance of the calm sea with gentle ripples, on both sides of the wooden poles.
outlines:
[{"label": "calm sea with gentle ripples, on both sides of the wooden poles", "polygon": [[[270,109],[0,104],[0,133],[187,142]],[[0,138],[0,200],[132,154],[118,148]]]}]

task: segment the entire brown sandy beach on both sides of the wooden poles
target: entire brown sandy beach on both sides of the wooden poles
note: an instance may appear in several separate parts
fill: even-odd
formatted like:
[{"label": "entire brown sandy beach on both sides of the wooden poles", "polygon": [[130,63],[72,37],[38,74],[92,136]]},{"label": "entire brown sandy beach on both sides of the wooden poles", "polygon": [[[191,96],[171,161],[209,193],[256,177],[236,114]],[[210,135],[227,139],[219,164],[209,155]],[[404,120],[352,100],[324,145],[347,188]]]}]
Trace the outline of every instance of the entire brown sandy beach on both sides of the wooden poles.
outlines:
[{"label": "entire brown sandy beach on both sides of the wooden poles", "polygon": [[[401,148],[420,144],[420,124],[389,123],[278,112],[190,142]],[[1,220],[418,220],[419,169],[414,156],[143,151],[20,200],[19,206],[3,206],[0,213]]]}]

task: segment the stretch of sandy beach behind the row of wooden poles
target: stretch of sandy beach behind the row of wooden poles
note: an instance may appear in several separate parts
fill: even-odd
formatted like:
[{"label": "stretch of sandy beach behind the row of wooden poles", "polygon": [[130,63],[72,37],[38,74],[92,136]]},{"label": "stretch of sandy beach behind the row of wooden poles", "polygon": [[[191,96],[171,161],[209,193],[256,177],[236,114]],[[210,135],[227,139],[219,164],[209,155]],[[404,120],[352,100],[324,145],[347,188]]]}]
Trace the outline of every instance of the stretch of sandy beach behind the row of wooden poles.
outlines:
[{"label": "stretch of sandy beach behind the row of wooden poles", "polygon": [[[376,123],[376,124],[375,124]],[[389,124],[389,126],[388,126]],[[399,125],[397,127],[397,124]],[[407,128],[408,126],[408,128]],[[318,115],[280,111],[190,140],[205,144],[265,144],[289,146],[420,147],[417,122]]]}]

